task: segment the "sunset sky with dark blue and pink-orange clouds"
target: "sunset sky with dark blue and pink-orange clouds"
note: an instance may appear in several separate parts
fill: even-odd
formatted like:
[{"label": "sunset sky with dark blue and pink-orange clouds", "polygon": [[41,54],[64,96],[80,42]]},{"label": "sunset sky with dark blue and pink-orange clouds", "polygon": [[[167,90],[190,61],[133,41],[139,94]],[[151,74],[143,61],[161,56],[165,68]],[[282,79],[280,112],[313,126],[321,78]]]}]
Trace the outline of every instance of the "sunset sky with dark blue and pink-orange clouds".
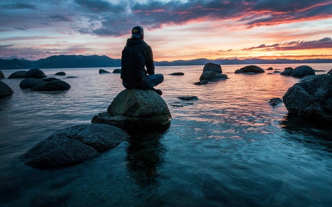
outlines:
[{"label": "sunset sky with dark blue and pink-orange clouds", "polygon": [[24,0],[0,3],[0,58],[121,58],[144,28],[154,60],[332,58],[332,0]]}]

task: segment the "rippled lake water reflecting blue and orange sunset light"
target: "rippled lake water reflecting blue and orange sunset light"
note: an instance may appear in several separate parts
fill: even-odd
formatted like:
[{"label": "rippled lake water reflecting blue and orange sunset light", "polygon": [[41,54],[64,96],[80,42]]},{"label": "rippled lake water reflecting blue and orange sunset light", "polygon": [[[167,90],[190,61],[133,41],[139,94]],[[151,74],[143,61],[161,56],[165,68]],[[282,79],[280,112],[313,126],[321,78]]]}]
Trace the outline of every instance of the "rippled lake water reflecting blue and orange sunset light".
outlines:
[{"label": "rippled lake water reflecting blue and orange sunset light", "polygon": [[[299,64],[259,66],[282,71]],[[20,156],[54,131],[90,124],[105,112],[124,89],[120,74],[43,69],[48,77],[59,71],[78,77],[57,77],[71,85],[60,92],[21,89],[22,79],[2,79],[14,94],[0,99],[0,205],[331,206],[331,127],[289,117],[284,104],[267,102],[282,98],[299,79],[221,67],[229,79],[201,86],[193,83],[203,66],[156,67],[165,75],[155,88],[163,91],[172,114],[169,129],[57,170],[31,168]],[[5,77],[13,72],[3,71]],[[173,72],[185,75],[167,75]],[[199,100],[182,101],[179,95]],[[170,106],[174,102],[194,104],[176,108]]]}]

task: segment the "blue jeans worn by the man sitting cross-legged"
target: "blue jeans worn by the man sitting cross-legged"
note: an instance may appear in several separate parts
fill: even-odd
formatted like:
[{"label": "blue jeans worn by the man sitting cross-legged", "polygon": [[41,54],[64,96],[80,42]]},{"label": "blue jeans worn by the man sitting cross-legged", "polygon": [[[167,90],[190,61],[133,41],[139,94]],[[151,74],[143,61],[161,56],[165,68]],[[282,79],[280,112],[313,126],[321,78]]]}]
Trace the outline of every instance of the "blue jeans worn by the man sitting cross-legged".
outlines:
[{"label": "blue jeans worn by the man sitting cross-legged", "polygon": [[164,81],[164,76],[162,74],[153,74],[153,75],[145,75],[145,77],[140,81],[129,81],[124,82],[122,84],[125,88],[131,89],[151,89],[154,86],[162,83]]}]

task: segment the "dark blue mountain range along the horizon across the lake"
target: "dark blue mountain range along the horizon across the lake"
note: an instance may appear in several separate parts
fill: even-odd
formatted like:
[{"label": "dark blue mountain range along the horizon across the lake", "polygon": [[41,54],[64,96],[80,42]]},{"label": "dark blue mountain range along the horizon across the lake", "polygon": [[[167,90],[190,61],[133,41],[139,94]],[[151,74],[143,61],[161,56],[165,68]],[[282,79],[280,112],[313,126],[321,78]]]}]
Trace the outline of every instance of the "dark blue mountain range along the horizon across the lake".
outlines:
[{"label": "dark blue mountain range along the horizon across the lake", "polygon": [[[254,64],[306,64],[306,63],[332,63],[332,59],[306,59],[306,60],[291,60],[291,59],[274,59],[266,60],[259,58],[250,59],[216,59],[209,60],[205,58],[195,60],[176,60],[155,61],[155,66],[193,66],[205,65],[211,62],[219,65],[254,65]],[[53,55],[39,60],[25,60],[25,59],[0,59],[0,70],[26,70],[32,68],[107,68],[107,67],[121,67],[121,59],[113,59],[106,55]]]}]

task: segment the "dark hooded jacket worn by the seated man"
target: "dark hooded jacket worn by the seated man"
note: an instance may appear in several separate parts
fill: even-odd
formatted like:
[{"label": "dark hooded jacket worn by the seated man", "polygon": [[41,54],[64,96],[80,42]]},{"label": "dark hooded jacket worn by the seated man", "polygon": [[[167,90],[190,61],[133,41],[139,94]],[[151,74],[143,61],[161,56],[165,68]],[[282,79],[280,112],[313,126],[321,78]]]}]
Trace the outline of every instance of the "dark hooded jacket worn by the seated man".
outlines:
[{"label": "dark hooded jacket worn by the seated man", "polygon": [[146,74],[154,74],[151,47],[143,39],[127,39],[121,57],[121,79],[124,81],[138,81],[142,80]]}]

